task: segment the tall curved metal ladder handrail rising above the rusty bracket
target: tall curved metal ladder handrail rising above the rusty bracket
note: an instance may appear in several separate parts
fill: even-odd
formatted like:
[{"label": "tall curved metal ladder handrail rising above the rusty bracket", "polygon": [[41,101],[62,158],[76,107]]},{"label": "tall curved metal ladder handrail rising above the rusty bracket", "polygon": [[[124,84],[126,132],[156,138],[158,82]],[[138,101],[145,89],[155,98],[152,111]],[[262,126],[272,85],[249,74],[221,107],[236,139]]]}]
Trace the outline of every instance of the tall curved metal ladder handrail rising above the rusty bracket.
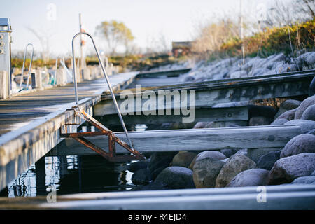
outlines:
[{"label": "tall curved metal ladder handrail rising above the rusty bracket", "polygon": [[123,116],[121,116],[121,113],[120,113],[120,109],[118,107],[118,104],[117,104],[117,101],[116,101],[116,97],[115,97],[115,94],[113,93],[113,89],[111,88],[111,83],[109,82],[109,77],[107,76],[107,73],[106,73],[106,70],[104,69],[104,64],[102,62],[102,59],[99,55],[99,51],[97,50],[97,47],[94,43],[94,39],[92,38],[92,36],[86,32],[79,32],[78,34],[74,35],[73,38],[72,38],[72,66],[73,66],[73,84],[74,84],[74,94],[75,94],[75,99],[76,99],[76,106],[78,106],[78,84],[76,83],[76,58],[74,57],[74,39],[79,36],[79,35],[87,35],[91,38],[92,40],[92,43],[94,45],[94,50],[96,51],[97,53],[97,58],[99,59],[99,64],[101,65],[102,67],[102,71],[104,73],[104,76],[105,76],[105,79],[106,79],[106,82],[107,82],[107,85],[109,85],[109,91],[111,92],[111,97],[113,98],[113,102],[115,104],[115,107],[116,107],[116,110],[117,110],[117,113],[118,113],[118,116],[119,116],[119,119],[120,119],[120,123],[121,125],[123,126],[123,129],[124,129],[124,132],[126,134],[126,137],[127,137],[127,140],[130,144],[130,148],[134,149],[134,147],[132,146],[132,141],[130,140],[129,138],[129,135],[128,135],[128,132],[127,132],[127,128],[126,128],[126,125],[124,123],[124,120],[123,120]]}]

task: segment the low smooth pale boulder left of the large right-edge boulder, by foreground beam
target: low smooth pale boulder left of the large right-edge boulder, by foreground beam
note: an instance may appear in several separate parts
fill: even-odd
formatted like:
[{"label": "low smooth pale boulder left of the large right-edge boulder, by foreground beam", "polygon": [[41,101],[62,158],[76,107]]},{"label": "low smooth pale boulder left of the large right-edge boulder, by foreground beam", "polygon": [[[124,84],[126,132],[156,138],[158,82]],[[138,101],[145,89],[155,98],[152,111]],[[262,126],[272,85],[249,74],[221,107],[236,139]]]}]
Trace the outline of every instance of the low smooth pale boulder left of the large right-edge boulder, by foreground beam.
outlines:
[{"label": "low smooth pale boulder left of the large right-edge boulder, by foreground beam", "polygon": [[240,172],[226,187],[264,186],[268,182],[266,169],[247,169]]}]

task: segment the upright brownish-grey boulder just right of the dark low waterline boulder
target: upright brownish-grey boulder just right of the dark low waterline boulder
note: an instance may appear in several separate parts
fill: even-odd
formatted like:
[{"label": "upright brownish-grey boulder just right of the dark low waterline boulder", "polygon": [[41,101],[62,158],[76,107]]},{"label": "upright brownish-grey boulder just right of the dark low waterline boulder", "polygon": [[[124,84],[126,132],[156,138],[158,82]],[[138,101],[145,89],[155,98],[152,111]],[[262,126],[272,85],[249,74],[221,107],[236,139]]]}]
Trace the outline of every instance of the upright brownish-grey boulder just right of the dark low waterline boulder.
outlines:
[{"label": "upright brownish-grey boulder just right of the dark low waterline boulder", "polygon": [[198,160],[193,167],[193,180],[196,188],[214,188],[224,162],[214,158]]}]

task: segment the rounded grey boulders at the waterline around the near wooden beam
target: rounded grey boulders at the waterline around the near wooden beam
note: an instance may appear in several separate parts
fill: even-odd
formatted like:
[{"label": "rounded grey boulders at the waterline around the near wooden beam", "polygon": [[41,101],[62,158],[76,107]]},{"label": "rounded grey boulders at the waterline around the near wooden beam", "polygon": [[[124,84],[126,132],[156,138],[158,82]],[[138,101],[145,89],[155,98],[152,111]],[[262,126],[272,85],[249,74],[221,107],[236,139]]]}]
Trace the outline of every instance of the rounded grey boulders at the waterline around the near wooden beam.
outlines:
[{"label": "rounded grey boulders at the waterline around the near wooden beam", "polygon": [[[127,167],[134,172],[132,182],[137,185],[132,190],[315,184],[315,95],[302,102],[287,99],[277,111],[271,106],[247,106],[249,126],[298,125],[301,134],[283,148],[152,153],[148,160]],[[206,127],[216,125],[204,122],[194,128]]]}]

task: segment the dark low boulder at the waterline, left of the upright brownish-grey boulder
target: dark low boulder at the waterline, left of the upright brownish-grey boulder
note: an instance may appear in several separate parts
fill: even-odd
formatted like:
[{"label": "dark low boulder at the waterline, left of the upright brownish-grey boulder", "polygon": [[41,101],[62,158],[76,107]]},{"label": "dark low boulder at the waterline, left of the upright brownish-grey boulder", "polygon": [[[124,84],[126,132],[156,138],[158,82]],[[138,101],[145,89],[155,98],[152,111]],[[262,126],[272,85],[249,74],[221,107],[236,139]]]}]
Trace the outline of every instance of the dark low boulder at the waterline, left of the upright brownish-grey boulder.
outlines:
[{"label": "dark low boulder at the waterline, left of the upright brownish-grey boulder", "polygon": [[193,171],[186,167],[167,167],[160,172],[155,182],[172,189],[195,188]]}]

